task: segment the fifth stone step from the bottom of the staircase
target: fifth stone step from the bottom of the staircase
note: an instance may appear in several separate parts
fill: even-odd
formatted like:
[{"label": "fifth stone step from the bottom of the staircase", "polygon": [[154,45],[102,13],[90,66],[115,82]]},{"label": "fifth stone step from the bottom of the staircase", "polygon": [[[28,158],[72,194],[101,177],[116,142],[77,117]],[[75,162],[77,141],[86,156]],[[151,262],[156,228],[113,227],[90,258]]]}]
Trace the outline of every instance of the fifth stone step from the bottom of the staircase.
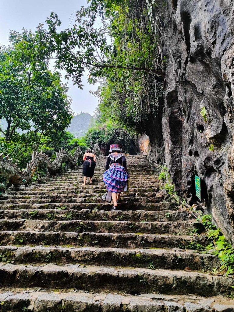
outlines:
[{"label": "fifth stone step from the bottom of the staircase", "polygon": [[134,222],[134,221],[51,221],[48,220],[6,220],[0,219],[0,231],[26,232],[96,232],[96,233],[144,233],[182,235],[196,229],[195,220],[173,222]]}]

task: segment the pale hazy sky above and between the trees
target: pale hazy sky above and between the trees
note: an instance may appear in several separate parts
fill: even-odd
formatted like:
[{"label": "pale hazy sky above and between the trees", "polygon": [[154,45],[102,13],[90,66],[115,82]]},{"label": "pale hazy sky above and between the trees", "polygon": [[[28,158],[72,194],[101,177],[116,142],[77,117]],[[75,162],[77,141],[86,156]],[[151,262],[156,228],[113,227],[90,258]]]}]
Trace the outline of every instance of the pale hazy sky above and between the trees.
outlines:
[{"label": "pale hazy sky above and between the trees", "polygon": [[[0,0],[0,44],[7,46],[9,44],[9,30],[21,32],[21,29],[27,28],[36,31],[39,23],[44,23],[50,12],[56,12],[61,20],[61,29],[66,29],[74,24],[74,15],[81,6],[86,6],[86,0]],[[62,75],[62,81],[67,80]],[[98,104],[98,99],[89,93],[89,90],[95,90],[97,85],[89,85],[87,77],[83,79],[83,90],[73,85],[69,80],[68,95],[73,99],[71,107],[74,113],[84,111],[93,115]]]}]

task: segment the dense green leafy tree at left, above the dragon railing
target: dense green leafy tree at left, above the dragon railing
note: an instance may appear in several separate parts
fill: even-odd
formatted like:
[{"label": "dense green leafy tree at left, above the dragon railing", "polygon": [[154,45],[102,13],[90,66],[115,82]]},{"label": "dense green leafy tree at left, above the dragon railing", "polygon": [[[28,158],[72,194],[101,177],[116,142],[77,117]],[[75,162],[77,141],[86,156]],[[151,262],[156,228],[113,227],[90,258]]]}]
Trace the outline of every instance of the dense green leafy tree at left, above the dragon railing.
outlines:
[{"label": "dense green leafy tree at left, above the dragon railing", "polygon": [[9,141],[17,128],[27,132],[34,128],[34,134],[40,132],[39,142],[43,133],[64,131],[69,125],[67,87],[58,72],[48,70],[45,59],[50,51],[40,46],[35,34],[11,32],[10,42],[0,51],[0,119],[7,121],[7,130],[0,131]]}]

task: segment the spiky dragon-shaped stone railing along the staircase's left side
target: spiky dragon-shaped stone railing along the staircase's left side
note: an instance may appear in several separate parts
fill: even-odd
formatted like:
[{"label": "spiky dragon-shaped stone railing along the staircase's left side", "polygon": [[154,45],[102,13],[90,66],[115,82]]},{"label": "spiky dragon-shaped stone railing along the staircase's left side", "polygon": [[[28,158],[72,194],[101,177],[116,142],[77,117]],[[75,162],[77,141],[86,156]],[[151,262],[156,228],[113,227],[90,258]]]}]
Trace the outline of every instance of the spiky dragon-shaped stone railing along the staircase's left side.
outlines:
[{"label": "spiky dragon-shaped stone railing along the staircase's left side", "polygon": [[7,187],[12,184],[17,187],[30,183],[37,168],[42,168],[48,175],[55,175],[61,170],[63,163],[66,164],[66,168],[74,168],[81,155],[80,147],[77,147],[73,156],[61,148],[53,161],[42,151],[40,153],[33,152],[32,160],[27,163],[26,169],[20,170],[17,168],[17,163],[12,163],[12,159],[9,159],[9,154],[5,157],[3,157],[3,153],[0,154],[0,178],[2,180],[0,198],[2,193],[6,192]]}]

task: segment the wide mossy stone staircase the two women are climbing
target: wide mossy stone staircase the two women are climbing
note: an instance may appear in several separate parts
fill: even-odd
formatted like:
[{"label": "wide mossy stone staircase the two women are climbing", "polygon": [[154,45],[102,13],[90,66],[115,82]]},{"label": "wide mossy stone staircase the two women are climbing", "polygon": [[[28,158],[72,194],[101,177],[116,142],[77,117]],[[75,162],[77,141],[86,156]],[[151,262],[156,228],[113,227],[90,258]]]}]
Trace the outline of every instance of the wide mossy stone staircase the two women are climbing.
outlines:
[{"label": "wide mossy stone staircase the two women are climbing", "polygon": [[128,156],[130,193],[110,211],[105,159],[93,184],[76,167],[0,202],[0,311],[233,312],[233,278],[188,248],[209,242],[160,197],[156,168]]}]

